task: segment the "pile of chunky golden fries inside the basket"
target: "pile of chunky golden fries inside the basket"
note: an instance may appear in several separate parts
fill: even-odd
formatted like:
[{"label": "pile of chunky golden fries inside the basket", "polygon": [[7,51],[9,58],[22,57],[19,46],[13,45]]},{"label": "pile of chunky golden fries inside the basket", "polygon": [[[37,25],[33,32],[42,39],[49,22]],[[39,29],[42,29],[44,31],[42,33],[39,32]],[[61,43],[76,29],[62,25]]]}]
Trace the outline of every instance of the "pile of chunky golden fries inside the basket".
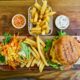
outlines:
[{"label": "pile of chunky golden fries inside the basket", "polygon": [[42,5],[35,2],[33,8],[30,10],[30,22],[33,24],[30,30],[31,34],[48,34],[50,32],[50,19],[55,13],[56,12],[53,12],[51,7],[47,5],[46,0],[43,0]]}]

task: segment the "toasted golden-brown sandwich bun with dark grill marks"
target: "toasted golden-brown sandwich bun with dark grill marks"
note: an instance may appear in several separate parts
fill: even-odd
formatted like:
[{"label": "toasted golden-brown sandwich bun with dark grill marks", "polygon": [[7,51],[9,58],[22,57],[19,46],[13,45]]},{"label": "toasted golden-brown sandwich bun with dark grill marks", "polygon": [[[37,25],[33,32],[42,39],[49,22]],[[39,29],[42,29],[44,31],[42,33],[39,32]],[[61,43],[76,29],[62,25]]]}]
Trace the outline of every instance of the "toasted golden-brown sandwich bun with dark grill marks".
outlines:
[{"label": "toasted golden-brown sandwich bun with dark grill marks", "polygon": [[72,65],[80,57],[80,44],[71,36],[62,36],[53,42],[50,55],[53,62]]}]

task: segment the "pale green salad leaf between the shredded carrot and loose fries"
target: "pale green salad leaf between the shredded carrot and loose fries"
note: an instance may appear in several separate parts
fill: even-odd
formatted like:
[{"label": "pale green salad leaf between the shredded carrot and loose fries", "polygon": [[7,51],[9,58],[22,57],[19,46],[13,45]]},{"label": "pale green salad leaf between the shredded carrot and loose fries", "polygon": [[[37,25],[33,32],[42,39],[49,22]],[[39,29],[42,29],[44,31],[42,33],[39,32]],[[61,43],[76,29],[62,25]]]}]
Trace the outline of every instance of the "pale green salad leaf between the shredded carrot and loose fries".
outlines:
[{"label": "pale green salad leaf between the shredded carrot and loose fries", "polygon": [[30,47],[24,43],[21,42],[21,52],[23,52],[23,54],[26,56],[27,59],[30,59],[30,53],[31,53],[31,49]]}]

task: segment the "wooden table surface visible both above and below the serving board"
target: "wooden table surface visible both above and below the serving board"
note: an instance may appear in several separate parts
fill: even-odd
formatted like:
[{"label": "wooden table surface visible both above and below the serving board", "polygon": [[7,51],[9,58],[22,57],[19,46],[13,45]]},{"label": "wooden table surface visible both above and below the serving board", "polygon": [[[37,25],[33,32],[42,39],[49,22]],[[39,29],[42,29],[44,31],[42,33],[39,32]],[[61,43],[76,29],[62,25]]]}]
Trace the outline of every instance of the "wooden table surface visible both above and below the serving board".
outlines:
[{"label": "wooden table surface visible both above and below the serving board", "polygon": [[[25,28],[16,30],[11,24],[11,19],[15,14],[21,13],[24,14],[28,20],[27,10],[33,4],[34,0],[0,0],[0,35],[6,31],[11,33],[20,33],[20,35],[27,35],[28,24],[26,24]],[[69,17],[70,27],[66,30],[68,34],[80,35],[80,0],[48,0],[48,4],[53,8],[54,11],[57,12],[57,14],[54,16],[54,20],[56,16],[60,14]],[[55,28],[55,25],[53,27],[54,35],[56,34],[57,29]],[[22,76],[37,77],[37,79],[41,80],[75,80],[72,78],[78,73],[80,73],[79,70],[47,71],[46,69],[42,73],[39,73],[36,70],[33,73],[31,71],[28,73],[28,71],[25,69],[19,71],[0,71],[0,80],[4,78]]]}]

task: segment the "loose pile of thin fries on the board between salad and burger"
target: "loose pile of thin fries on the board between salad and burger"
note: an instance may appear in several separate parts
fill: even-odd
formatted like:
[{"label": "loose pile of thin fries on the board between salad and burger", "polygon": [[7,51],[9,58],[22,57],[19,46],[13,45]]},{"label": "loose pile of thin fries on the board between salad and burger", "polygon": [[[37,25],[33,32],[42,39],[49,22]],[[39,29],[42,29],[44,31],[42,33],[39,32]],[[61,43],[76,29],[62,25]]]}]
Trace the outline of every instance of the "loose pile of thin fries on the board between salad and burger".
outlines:
[{"label": "loose pile of thin fries on the board between salad and burger", "polygon": [[[48,66],[47,60],[45,58],[44,47],[45,43],[40,39],[39,36],[36,37],[36,40],[31,38],[26,38],[24,43],[27,43],[31,47],[31,57],[30,60],[25,61],[26,67],[34,67],[37,65],[39,67],[39,71],[42,72],[45,66]],[[22,65],[21,67],[25,66]]]}]

